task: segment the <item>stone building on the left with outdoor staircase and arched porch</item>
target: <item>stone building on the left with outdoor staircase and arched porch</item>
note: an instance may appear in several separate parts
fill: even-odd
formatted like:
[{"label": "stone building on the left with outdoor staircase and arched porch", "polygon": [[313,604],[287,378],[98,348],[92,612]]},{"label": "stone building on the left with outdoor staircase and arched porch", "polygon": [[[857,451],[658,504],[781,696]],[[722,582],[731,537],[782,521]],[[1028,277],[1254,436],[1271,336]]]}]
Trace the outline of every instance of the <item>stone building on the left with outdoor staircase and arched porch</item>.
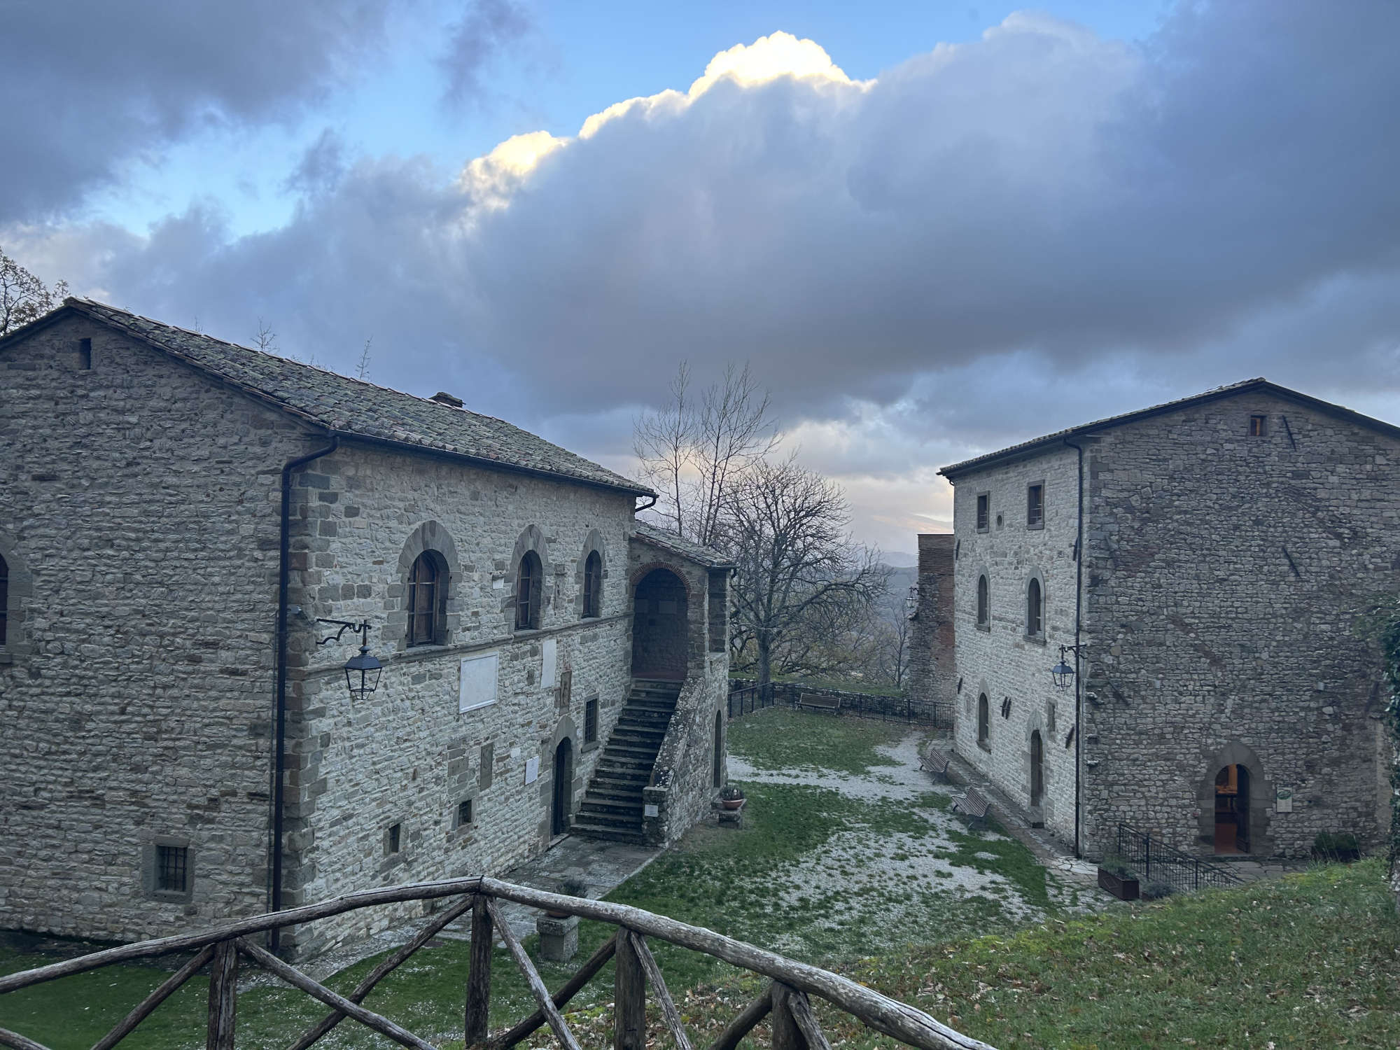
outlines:
[{"label": "stone building on the left with outdoor staircase and arched porch", "polygon": [[[87,300],[0,370],[0,927],[141,938],[708,809],[731,567],[645,487]],[[318,619],[368,622],[375,692]]]}]

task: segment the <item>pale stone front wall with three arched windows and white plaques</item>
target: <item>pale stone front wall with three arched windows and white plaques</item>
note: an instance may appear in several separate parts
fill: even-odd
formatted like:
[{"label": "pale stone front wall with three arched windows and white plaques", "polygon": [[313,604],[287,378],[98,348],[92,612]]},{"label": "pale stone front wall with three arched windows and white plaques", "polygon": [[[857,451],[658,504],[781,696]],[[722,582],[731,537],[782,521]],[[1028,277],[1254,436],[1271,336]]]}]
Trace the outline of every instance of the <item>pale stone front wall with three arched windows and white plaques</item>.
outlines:
[{"label": "pale stone front wall with three arched windows and white plaques", "polygon": [[[287,871],[295,885],[286,903],[501,872],[543,851],[559,745],[567,739],[571,752],[571,811],[627,693],[633,500],[363,445],[316,461],[298,493],[295,547],[307,549],[307,568],[293,601],[311,616],[384,623],[371,648],[385,672],[368,703],[351,704],[339,664],[353,645],[315,650],[316,630],[298,631],[295,648],[309,664],[294,687]],[[410,648],[405,580],[424,549],[451,568],[448,624],[442,644]],[[545,608],[539,630],[517,631],[525,550],[543,564]],[[603,561],[601,616],[582,619],[591,550]],[[463,661],[491,658],[494,701],[463,700]],[[584,706],[594,697],[598,742],[585,743]],[[473,819],[461,825],[468,799]],[[393,825],[398,853],[386,841]],[[318,923],[294,945],[316,952],[398,917],[377,909]]]}]

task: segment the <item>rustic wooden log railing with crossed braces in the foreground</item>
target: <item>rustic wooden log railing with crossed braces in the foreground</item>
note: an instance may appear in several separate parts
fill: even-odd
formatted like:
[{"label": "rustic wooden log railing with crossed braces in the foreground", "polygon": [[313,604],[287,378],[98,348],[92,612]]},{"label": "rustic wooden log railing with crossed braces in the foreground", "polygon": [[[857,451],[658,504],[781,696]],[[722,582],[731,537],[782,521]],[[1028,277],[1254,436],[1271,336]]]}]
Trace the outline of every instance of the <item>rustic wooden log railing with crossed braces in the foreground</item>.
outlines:
[{"label": "rustic wooden log railing with crossed braces in the foreground", "polygon": [[[283,962],[255,942],[258,934],[290,925],[301,925],[319,918],[354,911],[379,904],[406,900],[452,899],[445,911],[433,917],[427,925],[407,944],[386,956],[370,974],[356,986],[349,995],[339,995],[301,970]],[[609,923],[617,932],[564,983],[553,995],[540,980],[539,972],[525,953],[519,938],[511,931],[500,913],[500,902],[546,909],[554,913],[580,916],[582,918]],[[444,882],[421,882],[407,886],[364,890],[343,897],[307,904],[304,907],[276,911],[253,918],[228,923],[200,934],[165,937],[157,941],[109,948],[77,959],[64,959],[34,970],[11,973],[0,977],[0,995],[32,984],[57,980],[76,973],[85,973],[101,966],[148,959],[175,952],[195,952],[195,956],[174,973],[164,984],[147,995],[108,1035],[97,1042],[92,1050],[111,1050],[122,1039],[168,998],[186,980],[209,967],[209,1050],[232,1050],[238,1007],[239,956],[256,963],[266,972],[280,977],[294,988],[319,1000],[329,1012],[316,1025],[298,1036],[290,1050],[307,1050],[344,1018],[353,1018],[361,1025],[379,1032],[396,1043],[414,1050],[435,1050],[431,1043],[400,1028],[361,1004],[385,976],[426,945],[449,923],[472,917],[470,969],[465,994],[463,1036],[468,1047],[482,1050],[507,1050],[515,1046],[542,1025],[549,1025],[556,1040],[564,1050],[580,1050],[568,1023],[560,1009],[612,959],[615,960],[613,987],[613,1047],[615,1050],[645,1050],[647,1046],[647,990],[661,1008],[661,1016],[671,1032],[678,1050],[692,1050],[692,1043],[682,1025],[666,990],[661,967],[657,965],[647,938],[657,938],[682,948],[722,959],[734,966],[752,970],[770,979],[770,984],[749,1007],[746,1007],[714,1042],[711,1050],[734,1050],[755,1025],[771,1014],[773,1046],[776,1050],[830,1050],[826,1036],[812,1012],[809,995],[818,995],[839,1007],[867,1026],[893,1036],[902,1043],[921,1050],[994,1050],[987,1043],[962,1035],[939,1023],[923,1011],[904,1002],[881,995],[878,991],[857,984],[829,970],[785,959],[781,955],[755,948],[743,941],[724,937],[711,930],[678,923],[641,909],[613,904],[603,900],[568,897],[547,893],[528,886],[517,886],[491,878],[449,879]],[[491,1001],[491,949],[500,937],[515,965],[525,976],[538,1009],[511,1029],[490,1036],[487,1015]],[[17,1032],[0,1029],[0,1046],[14,1050],[46,1050]]]}]

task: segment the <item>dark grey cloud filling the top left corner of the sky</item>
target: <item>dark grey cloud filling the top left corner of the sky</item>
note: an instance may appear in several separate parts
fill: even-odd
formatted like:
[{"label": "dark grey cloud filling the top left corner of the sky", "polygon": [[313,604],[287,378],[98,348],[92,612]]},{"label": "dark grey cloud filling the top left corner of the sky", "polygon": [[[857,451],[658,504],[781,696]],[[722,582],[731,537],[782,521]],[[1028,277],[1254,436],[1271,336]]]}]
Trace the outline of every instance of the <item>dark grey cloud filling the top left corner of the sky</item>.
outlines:
[{"label": "dark grey cloud filling the top left corner of the sky", "polygon": [[[0,221],[56,214],[210,127],[298,116],[384,43],[392,0],[6,6]],[[21,162],[14,162],[20,160]]]}]

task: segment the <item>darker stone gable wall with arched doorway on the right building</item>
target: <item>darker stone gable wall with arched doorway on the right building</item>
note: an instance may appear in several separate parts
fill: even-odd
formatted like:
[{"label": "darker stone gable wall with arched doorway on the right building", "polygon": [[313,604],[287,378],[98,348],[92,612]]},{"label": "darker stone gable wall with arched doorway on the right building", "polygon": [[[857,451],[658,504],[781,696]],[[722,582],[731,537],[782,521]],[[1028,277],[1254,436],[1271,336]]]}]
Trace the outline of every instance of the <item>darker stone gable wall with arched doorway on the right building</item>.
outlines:
[{"label": "darker stone gable wall with arched doorway on the right building", "polygon": [[1235,762],[1252,851],[1375,844],[1383,687],[1354,616],[1400,584],[1400,442],[1245,393],[1105,431],[1089,476],[1086,848],[1123,820],[1211,853],[1214,777]]}]

